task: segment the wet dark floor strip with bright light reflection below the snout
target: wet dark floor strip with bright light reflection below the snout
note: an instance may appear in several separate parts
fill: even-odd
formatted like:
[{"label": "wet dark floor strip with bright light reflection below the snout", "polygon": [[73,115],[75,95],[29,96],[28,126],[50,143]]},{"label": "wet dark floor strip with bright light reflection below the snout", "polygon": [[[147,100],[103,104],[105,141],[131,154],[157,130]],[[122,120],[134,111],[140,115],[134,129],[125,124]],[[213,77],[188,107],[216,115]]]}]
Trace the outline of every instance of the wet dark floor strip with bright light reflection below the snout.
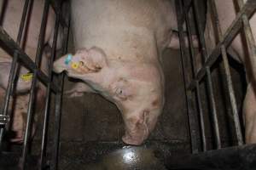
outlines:
[{"label": "wet dark floor strip with bright light reflection below the snout", "polygon": [[61,143],[60,169],[65,170],[166,170],[168,156],[189,150],[183,142],[150,141],[142,146],[123,143]]}]

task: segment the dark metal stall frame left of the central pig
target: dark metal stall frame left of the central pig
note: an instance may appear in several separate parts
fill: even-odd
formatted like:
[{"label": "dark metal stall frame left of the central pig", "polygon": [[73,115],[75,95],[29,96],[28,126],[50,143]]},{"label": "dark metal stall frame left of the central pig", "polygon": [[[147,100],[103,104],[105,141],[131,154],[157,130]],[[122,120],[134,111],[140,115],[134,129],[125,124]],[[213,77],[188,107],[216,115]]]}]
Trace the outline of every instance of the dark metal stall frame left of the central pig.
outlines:
[{"label": "dark metal stall frame left of the central pig", "polygon": [[[10,76],[9,76],[9,82],[8,82],[8,88],[6,90],[6,95],[3,102],[3,111],[0,112],[0,125],[1,125],[1,131],[0,131],[0,156],[3,157],[3,134],[4,131],[9,128],[9,121],[12,119],[12,117],[9,115],[8,108],[9,108],[9,99],[10,96],[13,93],[13,90],[15,88],[15,77],[17,77],[17,68],[20,63],[26,68],[28,68],[30,71],[32,71],[33,77],[32,77],[32,87],[30,90],[30,99],[28,103],[28,111],[27,111],[27,120],[26,120],[26,133],[24,134],[24,142],[23,142],[23,149],[22,149],[22,155],[20,157],[20,165],[17,165],[20,167],[20,169],[27,169],[27,163],[26,158],[28,155],[28,142],[30,140],[30,134],[32,131],[32,115],[33,115],[33,105],[35,100],[35,93],[36,93],[36,86],[37,82],[43,82],[44,86],[47,88],[46,90],[46,99],[45,99],[45,107],[44,107],[44,127],[43,127],[43,135],[42,135],[42,142],[41,142],[41,152],[39,156],[39,163],[37,169],[45,169],[45,167],[49,166],[46,164],[46,147],[47,147],[47,137],[48,137],[48,124],[49,124],[49,105],[50,105],[50,96],[52,93],[55,94],[55,138],[54,138],[54,150],[53,150],[53,156],[51,161],[51,167],[53,169],[57,169],[57,162],[58,162],[58,147],[59,147],[59,135],[60,135],[60,126],[61,126],[61,96],[63,93],[63,79],[64,79],[64,73],[62,73],[60,76],[58,76],[58,81],[53,82],[53,62],[55,59],[55,48],[57,43],[57,37],[58,37],[58,31],[59,26],[61,25],[64,30],[63,35],[63,45],[61,54],[67,53],[67,42],[68,42],[68,34],[69,34],[69,27],[70,27],[70,10],[69,10],[69,4],[67,3],[67,11],[64,11],[62,14],[61,10],[61,1],[55,0],[45,0],[44,1],[44,12],[41,22],[41,28],[40,28],[40,34],[38,37],[38,48],[37,48],[37,54],[35,62],[32,61],[28,57],[28,55],[20,48],[20,42],[22,42],[22,37],[24,30],[26,30],[26,19],[29,14],[29,8],[32,7],[33,0],[26,0],[23,7],[23,12],[20,20],[20,29],[18,32],[18,37],[15,42],[6,31],[4,31],[3,27],[0,26],[0,40],[4,43],[4,45],[9,48],[13,55],[13,61],[11,65],[10,70]],[[54,9],[55,11],[55,32],[54,32],[54,38],[53,38],[53,47],[51,49],[51,59],[49,61],[49,75],[45,75],[43,71],[39,69],[39,63],[42,57],[42,49],[44,46],[44,32],[46,28],[47,23],[47,16],[49,12],[49,6]],[[20,63],[19,63],[19,61]],[[49,161],[49,158],[48,158]],[[35,169],[35,168],[33,168]]]}]

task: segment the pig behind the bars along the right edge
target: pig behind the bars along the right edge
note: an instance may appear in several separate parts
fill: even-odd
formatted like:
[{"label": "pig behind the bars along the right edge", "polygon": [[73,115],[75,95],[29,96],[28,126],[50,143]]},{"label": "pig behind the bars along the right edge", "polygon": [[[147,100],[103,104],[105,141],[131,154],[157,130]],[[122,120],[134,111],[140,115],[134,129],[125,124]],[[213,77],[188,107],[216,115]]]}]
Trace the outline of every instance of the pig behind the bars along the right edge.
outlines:
[{"label": "pig behind the bars along the right edge", "polygon": [[[236,18],[236,4],[234,1],[214,0],[217,7],[219,25],[221,30],[225,32]],[[246,2],[244,0],[244,2]],[[236,3],[236,2],[235,2]],[[208,7],[209,4],[208,4]],[[253,31],[253,37],[256,38],[256,14],[250,19],[250,25]],[[212,26],[212,16],[210,10],[207,12],[207,26],[205,37],[207,39],[207,50],[209,52],[216,46],[214,27]],[[247,76],[247,92],[243,101],[243,116],[245,122],[245,139],[247,144],[256,143],[256,72],[253,72],[255,61],[248,59],[246,44],[241,34],[238,34],[228,48],[228,53],[232,58],[236,59],[244,65]]]}]

